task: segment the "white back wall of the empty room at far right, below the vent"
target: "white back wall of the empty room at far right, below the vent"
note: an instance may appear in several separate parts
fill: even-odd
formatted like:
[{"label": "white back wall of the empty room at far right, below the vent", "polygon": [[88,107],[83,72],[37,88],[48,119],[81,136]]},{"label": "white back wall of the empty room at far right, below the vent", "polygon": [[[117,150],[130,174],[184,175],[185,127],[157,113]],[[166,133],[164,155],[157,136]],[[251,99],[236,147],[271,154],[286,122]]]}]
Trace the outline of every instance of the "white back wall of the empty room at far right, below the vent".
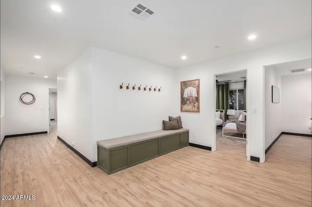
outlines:
[{"label": "white back wall of the empty room at far right, below the vent", "polygon": [[311,73],[282,76],[282,131],[311,134]]}]

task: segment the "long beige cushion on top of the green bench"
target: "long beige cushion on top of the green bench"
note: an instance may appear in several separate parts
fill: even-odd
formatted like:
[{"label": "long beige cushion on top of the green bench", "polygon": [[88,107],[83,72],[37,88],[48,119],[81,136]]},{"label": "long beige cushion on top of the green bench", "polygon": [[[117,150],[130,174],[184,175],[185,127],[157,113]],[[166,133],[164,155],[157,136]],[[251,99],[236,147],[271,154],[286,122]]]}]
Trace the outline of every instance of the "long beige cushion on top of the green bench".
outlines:
[{"label": "long beige cushion on top of the green bench", "polygon": [[120,147],[123,145],[129,145],[137,142],[142,142],[145,140],[149,139],[154,139],[162,136],[167,136],[167,135],[172,135],[176,133],[181,133],[181,132],[188,132],[188,129],[180,129],[180,130],[159,130],[159,131],[154,131],[154,132],[145,132],[145,133],[139,133],[139,134],[134,134],[130,136],[122,136],[118,138],[113,138],[113,139],[105,139],[105,140],[100,140],[97,141],[98,145],[106,148],[106,149],[111,149],[111,148],[116,148]]}]

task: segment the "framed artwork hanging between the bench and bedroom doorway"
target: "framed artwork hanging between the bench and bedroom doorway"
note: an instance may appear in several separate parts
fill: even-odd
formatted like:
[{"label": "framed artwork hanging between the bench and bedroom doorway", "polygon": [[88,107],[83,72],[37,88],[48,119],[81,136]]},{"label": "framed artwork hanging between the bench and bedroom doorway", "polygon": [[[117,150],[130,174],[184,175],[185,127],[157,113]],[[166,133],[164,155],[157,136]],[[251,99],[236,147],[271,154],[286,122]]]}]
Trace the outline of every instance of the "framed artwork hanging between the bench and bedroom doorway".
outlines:
[{"label": "framed artwork hanging between the bench and bedroom doorway", "polygon": [[199,113],[199,79],[181,81],[181,112]]}]

